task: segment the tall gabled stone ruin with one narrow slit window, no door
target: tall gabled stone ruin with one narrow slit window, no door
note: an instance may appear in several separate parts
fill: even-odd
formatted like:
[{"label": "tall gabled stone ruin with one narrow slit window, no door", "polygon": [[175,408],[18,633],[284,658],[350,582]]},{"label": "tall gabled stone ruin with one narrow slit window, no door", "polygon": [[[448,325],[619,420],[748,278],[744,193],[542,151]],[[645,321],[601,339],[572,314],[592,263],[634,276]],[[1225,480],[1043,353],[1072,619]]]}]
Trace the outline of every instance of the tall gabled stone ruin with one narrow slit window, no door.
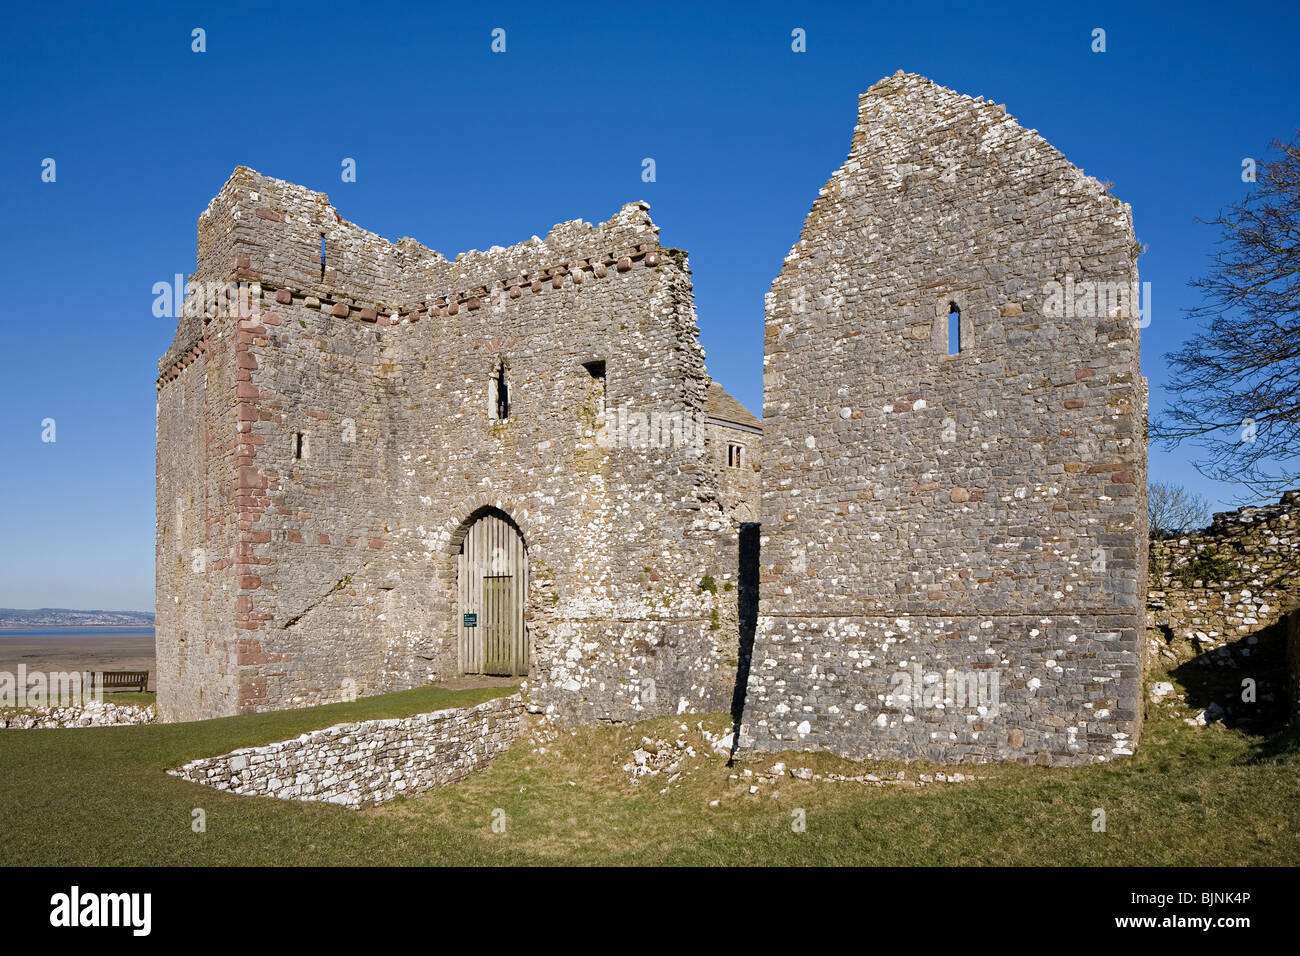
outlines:
[{"label": "tall gabled stone ruin with one narrow slit window, no door", "polygon": [[767,299],[742,745],[1087,762],[1141,709],[1130,208],[1004,107],[859,100]]}]

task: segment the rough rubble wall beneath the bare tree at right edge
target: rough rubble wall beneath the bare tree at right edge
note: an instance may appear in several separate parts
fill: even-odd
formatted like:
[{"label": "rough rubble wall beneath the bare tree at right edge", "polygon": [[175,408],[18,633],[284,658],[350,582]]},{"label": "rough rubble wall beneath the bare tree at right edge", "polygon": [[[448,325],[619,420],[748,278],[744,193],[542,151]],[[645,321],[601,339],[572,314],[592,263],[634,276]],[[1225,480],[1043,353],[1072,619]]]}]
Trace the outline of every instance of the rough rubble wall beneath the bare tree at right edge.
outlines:
[{"label": "rough rubble wall beneath the bare tree at right edge", "polygon": [[[1218,570],[1212,579],[1205,571]],[[1300,606],[1300,490],[1277,505],[1214,515],[1210,527],[1153,540],[1148,666],[1242,640]]]}]

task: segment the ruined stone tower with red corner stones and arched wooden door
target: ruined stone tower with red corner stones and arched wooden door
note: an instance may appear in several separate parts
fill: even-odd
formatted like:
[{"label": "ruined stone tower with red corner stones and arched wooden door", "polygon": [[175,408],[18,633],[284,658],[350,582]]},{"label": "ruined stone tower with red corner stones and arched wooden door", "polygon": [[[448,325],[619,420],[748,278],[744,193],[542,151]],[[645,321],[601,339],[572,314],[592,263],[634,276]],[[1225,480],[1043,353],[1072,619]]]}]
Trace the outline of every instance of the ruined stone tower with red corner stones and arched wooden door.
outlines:
[{"label": "ruined stone tower with red corner stones and arched wooden door", "polygon": [[159,363],[165,719],[465,672],[571,719],[725,709],[757,498],[714,463],[754,429],[708,411],[646,209],[448,261],[235,170]]}]

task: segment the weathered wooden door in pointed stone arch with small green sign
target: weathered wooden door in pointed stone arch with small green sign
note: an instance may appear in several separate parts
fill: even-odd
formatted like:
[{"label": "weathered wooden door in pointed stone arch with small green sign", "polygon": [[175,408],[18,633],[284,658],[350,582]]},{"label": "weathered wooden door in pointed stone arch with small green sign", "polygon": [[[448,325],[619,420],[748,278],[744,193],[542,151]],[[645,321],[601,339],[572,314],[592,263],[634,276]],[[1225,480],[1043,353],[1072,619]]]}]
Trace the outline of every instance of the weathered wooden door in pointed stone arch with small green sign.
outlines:
[{"label": "weathered wooden door in pointed stone arch with small green sign", "polygon": [[528,549],[504,511],[471,519],[456,555],[462,674],[528,674]]}]

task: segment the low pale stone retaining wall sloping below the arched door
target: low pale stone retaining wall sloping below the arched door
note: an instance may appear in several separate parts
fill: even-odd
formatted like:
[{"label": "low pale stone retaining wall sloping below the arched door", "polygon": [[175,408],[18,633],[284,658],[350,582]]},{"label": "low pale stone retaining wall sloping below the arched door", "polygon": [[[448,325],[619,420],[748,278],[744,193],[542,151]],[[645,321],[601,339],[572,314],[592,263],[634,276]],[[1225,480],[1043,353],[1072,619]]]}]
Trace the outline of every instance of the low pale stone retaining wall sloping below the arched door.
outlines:
[{"label": "low pale stone retaining wall sloping below the arched door", "polygon": [[472,708],[341,723],[168,773],[233,793],[368,806],[468,777],[510,748],[523,715],[523,700],[512,695]]}]

